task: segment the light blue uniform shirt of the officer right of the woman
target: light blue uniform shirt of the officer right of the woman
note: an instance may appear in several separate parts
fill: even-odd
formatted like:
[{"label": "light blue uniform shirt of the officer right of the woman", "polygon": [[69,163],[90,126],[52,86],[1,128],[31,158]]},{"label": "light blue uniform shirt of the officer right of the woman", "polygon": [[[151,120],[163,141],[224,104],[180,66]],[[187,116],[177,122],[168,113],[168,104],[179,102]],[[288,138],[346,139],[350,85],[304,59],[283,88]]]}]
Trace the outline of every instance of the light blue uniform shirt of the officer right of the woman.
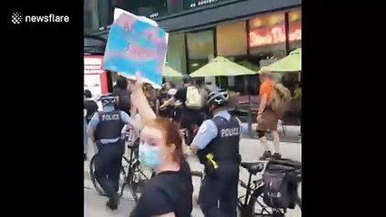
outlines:
[{"label": "light blue uniform shirt of the officer right of the woman", "polygon": [[[227,110],[218,111],[214,117],[222,117],[230,120],[231,115]],[[238,120],[240,122],[240,120]],[[228,132],[224,132],[225,134]],[[194,137],[192,144],[198,147],[199,150],[204,149],[213,139],[217,137],[218,129],[212,119],[205,120],[198,129],[198,134]],[[241,137],[241,124],[239,127],[239,136]]]}]

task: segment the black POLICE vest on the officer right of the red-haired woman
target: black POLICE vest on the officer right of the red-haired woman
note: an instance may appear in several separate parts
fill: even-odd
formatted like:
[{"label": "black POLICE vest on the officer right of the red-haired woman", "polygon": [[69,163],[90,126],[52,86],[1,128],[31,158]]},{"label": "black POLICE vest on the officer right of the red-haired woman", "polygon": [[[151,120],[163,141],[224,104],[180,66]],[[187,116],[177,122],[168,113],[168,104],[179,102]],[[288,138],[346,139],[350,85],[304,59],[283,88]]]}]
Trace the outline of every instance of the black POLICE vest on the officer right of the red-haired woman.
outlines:
[{"label": "black POLICE vest on the officer right of the red-haired woman", "polygon": [[212,118],[217,126],[217,137],[214,138],[203,150],[199,151],[200,161],[208,153],[213,153],[214,160],[239,161],[240,155],[238,146],[240,142],[240,124],[236,118],[231,117],[229,120],[222,117]]}]

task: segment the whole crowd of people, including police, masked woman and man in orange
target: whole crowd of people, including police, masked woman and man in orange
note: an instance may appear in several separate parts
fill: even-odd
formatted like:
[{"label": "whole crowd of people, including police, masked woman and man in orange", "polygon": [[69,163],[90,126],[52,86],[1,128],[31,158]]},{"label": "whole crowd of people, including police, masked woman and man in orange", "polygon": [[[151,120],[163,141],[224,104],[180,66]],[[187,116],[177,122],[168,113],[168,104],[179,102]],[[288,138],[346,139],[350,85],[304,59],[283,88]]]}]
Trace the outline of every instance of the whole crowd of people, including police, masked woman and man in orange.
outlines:
[{"label": "whole crowd of people, including police, masked woman and man in orange", "polygon": [[[265,152],[260,158],[281,158],[279,117],[271,108],[275,82],[267,71],[261,74],[261,81],[257,132]],[[236,217],[241,126],[238,118],[227,111],[232,96],[217,88],[212,78],[206,78],[200,85],[189,77],[182,82],[179,89],[171,82],[163,82],[155,103],[159,109],[151,106],[154,103],[144,93],[140,75],[131,83],[119,78],[115,90],[101,96],[100,111],[91,92],[84,91],[84,159],[90,138],[101,156],[95,165],[95,177],[109,197],[106,205],[111,210],[119,205],[118,184],[125,151],[121,129],[130,125],[140,130],[140,164],[157,174],[146,184],[130,216],[190,216],[193,185],[185,156],[197,155],[206,174],[198,199],[201,210],[207,217]],[[295,95],[298,96],[300,92]],[[140,123],[133,121],[137,114]],[[199,126],[198,133],[187,146],[181,130],[192,125]],[[268,133],[274,136],[273,153],[267,145]]]}]

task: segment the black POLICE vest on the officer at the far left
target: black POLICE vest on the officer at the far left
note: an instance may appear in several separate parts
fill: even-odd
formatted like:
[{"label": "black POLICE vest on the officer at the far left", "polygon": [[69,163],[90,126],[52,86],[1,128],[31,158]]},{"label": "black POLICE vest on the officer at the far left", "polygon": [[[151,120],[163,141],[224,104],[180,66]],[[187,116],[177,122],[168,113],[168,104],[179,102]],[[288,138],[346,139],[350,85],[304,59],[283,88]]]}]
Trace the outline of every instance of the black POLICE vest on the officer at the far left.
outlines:
[{"label": "black POLICE vest on the officer at the far left", "polygon": [[102,111],[98,114],[99,123],[95,129],[95,139],[114,139],[121,137],[124,123],[121,121],[121,110]]}]

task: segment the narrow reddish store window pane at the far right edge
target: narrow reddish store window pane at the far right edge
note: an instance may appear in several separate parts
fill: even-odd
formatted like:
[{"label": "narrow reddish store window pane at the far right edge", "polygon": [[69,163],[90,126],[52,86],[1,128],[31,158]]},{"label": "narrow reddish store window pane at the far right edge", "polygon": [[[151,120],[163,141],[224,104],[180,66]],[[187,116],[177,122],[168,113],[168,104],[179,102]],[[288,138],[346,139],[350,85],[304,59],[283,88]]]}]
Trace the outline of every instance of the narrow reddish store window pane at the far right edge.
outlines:
[{"label": "narrow reddish store window pane at the far right edge", "polygon": [[290,52],[302,47],[302,11],[301,9],[288,13],[288,42]]}]

